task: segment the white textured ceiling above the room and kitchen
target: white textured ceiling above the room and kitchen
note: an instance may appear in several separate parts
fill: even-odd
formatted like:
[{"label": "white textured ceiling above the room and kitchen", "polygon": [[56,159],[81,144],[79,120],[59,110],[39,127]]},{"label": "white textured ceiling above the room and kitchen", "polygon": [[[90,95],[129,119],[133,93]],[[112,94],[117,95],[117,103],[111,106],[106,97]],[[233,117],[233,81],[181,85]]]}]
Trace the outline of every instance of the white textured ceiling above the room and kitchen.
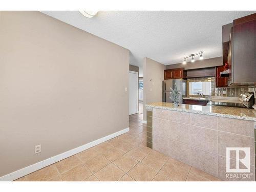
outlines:
[{"label": "white textured ceiling above the room and kitchen", "polygon": [[99,11],[93,18],[41,12],[129,49],[131,64],[141,68],[144,57],[169,65],[199,51],[222,56],[222,26],[256,11]]}]

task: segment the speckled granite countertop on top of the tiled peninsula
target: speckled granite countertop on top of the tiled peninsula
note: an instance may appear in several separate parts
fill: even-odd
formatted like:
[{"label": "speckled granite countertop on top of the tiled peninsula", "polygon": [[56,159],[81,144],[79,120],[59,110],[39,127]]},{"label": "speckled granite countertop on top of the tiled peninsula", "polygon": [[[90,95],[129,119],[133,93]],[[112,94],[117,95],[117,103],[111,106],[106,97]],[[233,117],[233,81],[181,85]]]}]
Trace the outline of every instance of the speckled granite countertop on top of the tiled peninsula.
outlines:
[{"label": "speckled granite countertop on top of the tiled peninsula", "polygon": [[245,108],[231,108],[228,106],[208,106],[208,105],[201,106],[201,105],[192,105],[192,104],[180,104],[178,107],[174,107],[173,103],[165,103],[165,102],[146,104],[146,109],[148,110],[150,108],[256,121],[256,110],[245,109]]}]

